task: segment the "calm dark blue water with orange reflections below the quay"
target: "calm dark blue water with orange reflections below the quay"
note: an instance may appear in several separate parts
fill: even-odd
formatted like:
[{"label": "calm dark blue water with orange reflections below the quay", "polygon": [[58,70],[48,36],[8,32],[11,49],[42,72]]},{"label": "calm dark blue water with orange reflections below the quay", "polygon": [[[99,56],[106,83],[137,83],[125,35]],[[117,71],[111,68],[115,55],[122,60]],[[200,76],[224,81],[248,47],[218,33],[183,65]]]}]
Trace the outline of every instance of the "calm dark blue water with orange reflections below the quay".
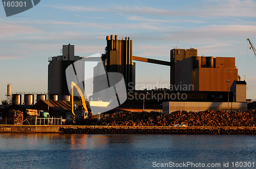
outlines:
[{"label": "calm dark blue water with orange reflections below the quay", "polygon": [[255,140],[254,135],[1,133],[0,168],[157,168],[169,162],[221,163],[220,168],[229,162],[228,168],[235,168],[233,161],[251,162],[243,168],[254,162],[256,168]]}]

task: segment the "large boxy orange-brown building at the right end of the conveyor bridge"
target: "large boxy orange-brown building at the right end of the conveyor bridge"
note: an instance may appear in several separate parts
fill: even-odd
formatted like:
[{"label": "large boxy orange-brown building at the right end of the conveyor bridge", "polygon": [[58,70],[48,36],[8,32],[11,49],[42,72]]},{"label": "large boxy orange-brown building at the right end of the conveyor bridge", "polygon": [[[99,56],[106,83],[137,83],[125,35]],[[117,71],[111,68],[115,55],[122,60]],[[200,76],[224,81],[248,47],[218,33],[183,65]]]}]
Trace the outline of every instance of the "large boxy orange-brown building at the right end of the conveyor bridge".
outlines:
[{"label": "large boxy orange-brown building at the right end of the conveyor bridge", "polygon": [[194,91],[230,91],[227,80],[239,79],[235,58],[199,57],[194,48],[172,49],[170,62],[170,85],[193,85]]}]

